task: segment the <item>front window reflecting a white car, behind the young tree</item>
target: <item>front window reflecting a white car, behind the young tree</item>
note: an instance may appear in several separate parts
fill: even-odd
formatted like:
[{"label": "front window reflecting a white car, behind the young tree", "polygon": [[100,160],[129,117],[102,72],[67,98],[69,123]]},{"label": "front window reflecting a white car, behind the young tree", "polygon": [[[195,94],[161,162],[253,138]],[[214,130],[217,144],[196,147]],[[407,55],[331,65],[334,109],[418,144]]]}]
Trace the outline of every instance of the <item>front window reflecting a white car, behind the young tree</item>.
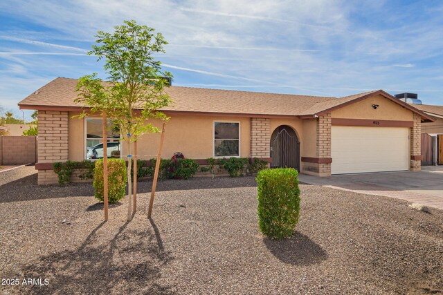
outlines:
[{"label": "front window reflecting a white car, behind the young tree", "polygon": [[[88,160],[103,158],[103,131],[101,118],[86,118],[86,158]],[[112,121],[107,120],[107,155],[109,158],[120,158],[120,134]]]}]

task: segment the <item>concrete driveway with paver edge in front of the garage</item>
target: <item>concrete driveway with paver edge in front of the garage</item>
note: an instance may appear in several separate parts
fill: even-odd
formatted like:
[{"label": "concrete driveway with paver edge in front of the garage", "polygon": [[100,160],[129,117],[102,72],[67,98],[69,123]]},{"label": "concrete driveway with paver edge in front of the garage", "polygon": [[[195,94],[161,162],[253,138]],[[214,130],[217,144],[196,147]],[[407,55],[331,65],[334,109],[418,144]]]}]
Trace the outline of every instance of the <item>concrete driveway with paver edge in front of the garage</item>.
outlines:
[{"label": "concrete driveway with paver edge in front of the garage", "polygon": [[328,178],[300,174],[300,182],[443,209],[443,166],[422,166],[422,171],[417,172],[359,173]]}]

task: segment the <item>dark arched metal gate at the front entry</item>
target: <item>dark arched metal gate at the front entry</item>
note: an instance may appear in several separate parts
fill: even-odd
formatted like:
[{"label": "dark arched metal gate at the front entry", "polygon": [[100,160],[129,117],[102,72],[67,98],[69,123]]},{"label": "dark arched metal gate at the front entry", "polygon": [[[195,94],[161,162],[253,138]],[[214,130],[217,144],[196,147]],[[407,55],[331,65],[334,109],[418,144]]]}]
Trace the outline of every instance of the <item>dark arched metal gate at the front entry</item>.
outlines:
[{"label": "dark arched metal gate at the front entry", "polygon": [[296,131],[278,126],[271,135],[271,168],[288,167],[300,171],[300,141]]}]

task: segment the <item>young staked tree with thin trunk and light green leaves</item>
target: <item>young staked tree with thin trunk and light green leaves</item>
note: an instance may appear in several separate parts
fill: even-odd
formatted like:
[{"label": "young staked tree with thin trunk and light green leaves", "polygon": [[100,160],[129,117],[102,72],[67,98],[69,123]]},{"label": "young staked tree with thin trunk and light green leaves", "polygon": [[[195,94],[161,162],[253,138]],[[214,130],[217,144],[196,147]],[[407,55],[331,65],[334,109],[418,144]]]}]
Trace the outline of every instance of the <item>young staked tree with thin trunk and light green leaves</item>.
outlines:
[{"label": "young staked tree with thin trunk and light green leaves", "polygon": [[[109,77],[103,82],[97,74],[80,78],[76,102],[87,105],[91,112],[105,110],[114,124],[120,129],[123,141],[127,143],[128,179],[128,220],[132,218],[131,191],[131,143],[145,133],[158,133],[160,130],[149,119],[167,121],[169,118],[158,111],[172,104],[165,93],[171,73],[161,69],[161,62],[152,56],[165,53],[163,46],[168,44],[161,33],[154,29],[139,26],[136,21],[125,21],[125,25],[114,27],[115,31],[98,32],[96,42],[89,55],[96,55],[98,61],[105,60],[105,70]],[[84,112],[82,116],[86,115]],[[136,180],[134,180],[136,181]]]}]

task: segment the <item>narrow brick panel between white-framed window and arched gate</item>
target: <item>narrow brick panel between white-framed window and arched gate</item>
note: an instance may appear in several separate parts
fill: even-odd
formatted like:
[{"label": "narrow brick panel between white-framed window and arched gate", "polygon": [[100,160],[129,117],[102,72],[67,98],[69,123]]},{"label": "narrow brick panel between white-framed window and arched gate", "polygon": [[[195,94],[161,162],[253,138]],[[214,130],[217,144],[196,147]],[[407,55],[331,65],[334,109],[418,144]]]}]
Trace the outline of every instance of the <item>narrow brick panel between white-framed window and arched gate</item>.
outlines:
[{"label": "narrow brick panel between white-framed window and arched gate", "polygon": [[266,118],[251,118],[251,157],[269,158],[271,152],[271,121]]}]

